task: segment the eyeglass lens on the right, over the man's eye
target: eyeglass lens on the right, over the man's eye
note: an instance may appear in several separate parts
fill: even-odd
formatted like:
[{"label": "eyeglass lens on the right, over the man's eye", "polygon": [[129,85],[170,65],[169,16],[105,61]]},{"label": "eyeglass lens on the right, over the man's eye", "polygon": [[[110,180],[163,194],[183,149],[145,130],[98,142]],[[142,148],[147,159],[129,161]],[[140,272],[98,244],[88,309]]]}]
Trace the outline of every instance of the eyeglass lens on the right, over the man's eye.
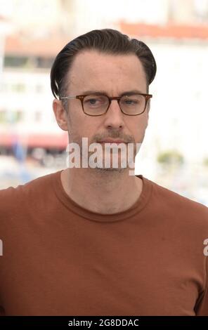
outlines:
[{"label": "eyeglass lens on the right, over the man's eye", "polygon": [[129,116],[141,114],[145,110],[145,96],[138,94],[124,95],[120,100],[120,107]]}]

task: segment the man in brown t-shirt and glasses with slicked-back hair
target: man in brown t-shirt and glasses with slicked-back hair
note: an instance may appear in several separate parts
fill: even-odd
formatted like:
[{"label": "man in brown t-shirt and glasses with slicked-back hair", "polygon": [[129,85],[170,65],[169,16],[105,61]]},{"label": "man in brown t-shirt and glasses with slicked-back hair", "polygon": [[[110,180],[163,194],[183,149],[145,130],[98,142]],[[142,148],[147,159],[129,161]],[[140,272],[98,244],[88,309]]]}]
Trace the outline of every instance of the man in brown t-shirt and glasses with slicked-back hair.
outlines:
[{"label": "man in brown t-shirt and glasses with slicked-back hair", "polygon": [[53,111],[85,165],[0,192],[2,315],[208,315],[207,207],[130,175],[116,148],[143,142],[155,73],[148,46],[113,29],[57,55]]}]

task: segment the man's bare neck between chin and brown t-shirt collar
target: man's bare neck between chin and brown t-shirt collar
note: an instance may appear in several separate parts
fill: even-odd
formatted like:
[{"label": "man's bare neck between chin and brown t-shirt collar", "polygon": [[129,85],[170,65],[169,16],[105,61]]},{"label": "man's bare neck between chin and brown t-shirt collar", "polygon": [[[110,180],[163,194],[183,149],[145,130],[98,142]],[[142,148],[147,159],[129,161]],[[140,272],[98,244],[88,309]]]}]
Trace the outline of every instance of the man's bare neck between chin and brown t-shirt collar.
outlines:
[{"label": "man's bare neck between chin and brown t-shirt collar", "polygon": [[67,195],[89,211],[112,214],[129,209],[139,199],[143,181],[129,170],[65,169],[61,182]]}]

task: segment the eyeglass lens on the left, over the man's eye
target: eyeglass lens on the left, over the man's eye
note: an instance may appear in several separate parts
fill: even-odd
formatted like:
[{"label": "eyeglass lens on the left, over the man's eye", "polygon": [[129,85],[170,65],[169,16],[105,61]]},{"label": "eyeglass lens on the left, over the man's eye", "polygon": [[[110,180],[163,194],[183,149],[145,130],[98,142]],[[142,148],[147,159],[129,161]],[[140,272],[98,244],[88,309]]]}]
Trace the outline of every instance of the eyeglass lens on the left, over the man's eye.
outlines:
[{"label": "eyeglass lens on the left, over the man's eye", "polygon": [[86,95],[83,100],[84,112],[92,116],[105,113],[108,108],[108,98],[105,95]]}]

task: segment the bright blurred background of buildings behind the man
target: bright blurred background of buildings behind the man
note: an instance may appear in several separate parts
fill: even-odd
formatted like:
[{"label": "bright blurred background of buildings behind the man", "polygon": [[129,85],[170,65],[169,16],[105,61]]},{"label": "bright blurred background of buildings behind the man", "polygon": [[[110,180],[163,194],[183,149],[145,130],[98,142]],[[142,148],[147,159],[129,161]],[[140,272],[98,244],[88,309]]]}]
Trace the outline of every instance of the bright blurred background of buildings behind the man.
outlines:
[{"label": "bright blurred background of buildings behind the man", "polygon": [[74,37],[106,27],[144,41],[157,62],[136,174],[208,206],[208,0],[0,0],[0,189],[66,167],[51,65]]}]

